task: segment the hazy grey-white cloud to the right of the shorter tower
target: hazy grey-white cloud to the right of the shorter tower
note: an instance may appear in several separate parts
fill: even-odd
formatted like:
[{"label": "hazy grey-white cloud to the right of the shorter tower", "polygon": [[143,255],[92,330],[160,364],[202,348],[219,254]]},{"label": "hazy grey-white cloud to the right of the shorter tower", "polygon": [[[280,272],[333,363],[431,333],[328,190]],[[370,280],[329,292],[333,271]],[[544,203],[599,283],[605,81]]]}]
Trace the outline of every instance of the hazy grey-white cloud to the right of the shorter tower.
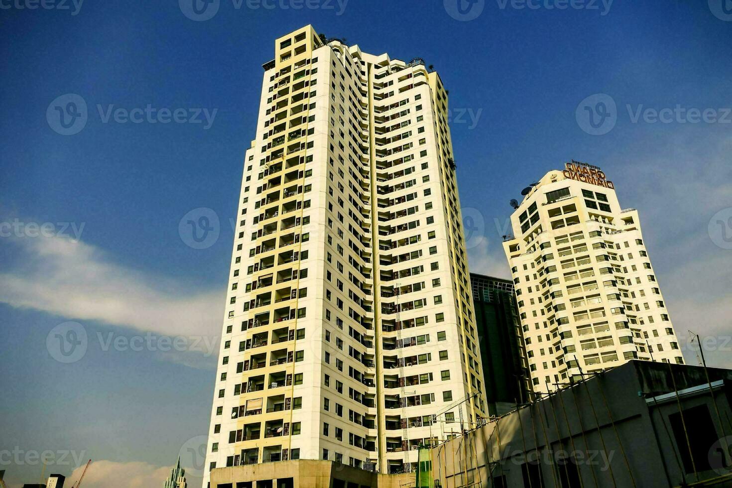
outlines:
[{"label": "hazy grey-white cloud to the right of the shorter tower", "polygon": [[[696,136],[696,135],[695,135]],[[638,209],[666,306],[688,364],[698,364],[688,331],[701,336],[707,364],[732,367],[732,251],[717,247],[709,219],[732,207],[732,138],[678,138],[654,154],[630,151],[618,173],[621,204]]]}]

